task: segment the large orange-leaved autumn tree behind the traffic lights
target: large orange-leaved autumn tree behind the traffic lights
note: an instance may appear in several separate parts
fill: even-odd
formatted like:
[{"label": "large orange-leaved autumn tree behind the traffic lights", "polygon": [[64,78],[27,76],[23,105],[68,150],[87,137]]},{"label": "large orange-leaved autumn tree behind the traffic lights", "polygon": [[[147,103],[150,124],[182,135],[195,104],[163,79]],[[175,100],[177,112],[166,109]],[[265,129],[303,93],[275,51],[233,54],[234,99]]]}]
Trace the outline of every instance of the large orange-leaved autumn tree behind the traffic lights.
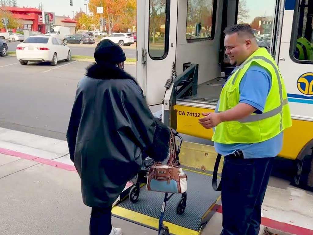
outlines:
[{"label": "large orange-leaved autumn tree behind the traffic lights", "polygon": [[[95,22],[99,22],[101,14],[97,13],[96,7],[103,7],[103,18],[108,24],[109,34],[116,24],[121,24],[124,18],[127,17],[128,6],[132,0],[90,0],[88,4],[90,12],[95,16]],[[131,4],[132,5],[132,4]],[[130,11],[132,12],[132,11]]]}]

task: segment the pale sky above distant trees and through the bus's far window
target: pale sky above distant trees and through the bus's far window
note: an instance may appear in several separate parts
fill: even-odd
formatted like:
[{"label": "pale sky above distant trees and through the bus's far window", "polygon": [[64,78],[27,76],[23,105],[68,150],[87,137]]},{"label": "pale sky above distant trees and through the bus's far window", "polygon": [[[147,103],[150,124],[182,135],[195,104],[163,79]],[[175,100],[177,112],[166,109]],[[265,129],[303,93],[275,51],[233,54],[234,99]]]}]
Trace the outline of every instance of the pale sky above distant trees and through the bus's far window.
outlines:
[{"label": "pale sky above distant trees and through the bus's far window", "polygon": [[[28,6],[36,8],[38,8],[39,3],[42,2],[45,11],[70,17],[73,17],[72,11],[79,11],[80,8],[85,12],[86,6],[84,4],[88,4],[88,2],[84,0],[73,0],[73,7],[69,5],[69,0],[17,0],[17,2],[19,7]],[[265,12],[266,16],[273,15],[274,13],[275,0],[246,0],[246,2],[247,8],[250,10],[250,17],[247,19],[249,22],[252,22],[256,16],[263,16]]]}]

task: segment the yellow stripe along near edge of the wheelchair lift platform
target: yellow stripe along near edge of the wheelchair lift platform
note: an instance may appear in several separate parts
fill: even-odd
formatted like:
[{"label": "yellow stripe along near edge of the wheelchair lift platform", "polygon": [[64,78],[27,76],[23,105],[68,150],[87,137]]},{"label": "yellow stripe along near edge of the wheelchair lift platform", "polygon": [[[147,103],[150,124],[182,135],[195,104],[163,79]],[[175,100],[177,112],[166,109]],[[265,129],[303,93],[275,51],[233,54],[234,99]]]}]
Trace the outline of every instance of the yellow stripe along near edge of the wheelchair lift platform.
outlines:
[{"label": "yellow stripe along near edge of the wheelchair lift platform", "polygon": [[[154,217],[150,217],[150,216],[146,216],[146,215],[140,214],[138,212],[134,212],[134,211],[125,209],[125,208],[120,207],[120,206],[113,206],[112,214],[116,215],[118,217],[123,217],[123,218],[126,218],[128,220],[140,223],[142,225],[146,225],[146,226],[151,227],[151,228],[155,228],[156,230],[158,230],[158,228],[159,228],[159,219],[154,218]],[[169,223],[166,221],[164,221],[164,225],[168,227],[169,232],[171,234],[175,234],[175,235],[198,235],[199,234],[199,231],[195,231],[195,230],[192,230],[189,228],[181,227],[177,224]]]}]

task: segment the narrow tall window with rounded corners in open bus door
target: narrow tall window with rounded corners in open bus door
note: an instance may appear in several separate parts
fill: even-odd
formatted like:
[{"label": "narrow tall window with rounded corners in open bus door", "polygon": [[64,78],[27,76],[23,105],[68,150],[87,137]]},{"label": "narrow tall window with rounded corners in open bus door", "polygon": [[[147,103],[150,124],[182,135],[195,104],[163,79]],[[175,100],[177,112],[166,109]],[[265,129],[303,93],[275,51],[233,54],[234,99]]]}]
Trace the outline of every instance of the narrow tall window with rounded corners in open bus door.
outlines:
[{"label": "narrow tall window with rounded corners in open bus door", "polygon": [[149,4],[149,55],[162,60],[168,52],[169,6],[166,0],[150,0]]}]

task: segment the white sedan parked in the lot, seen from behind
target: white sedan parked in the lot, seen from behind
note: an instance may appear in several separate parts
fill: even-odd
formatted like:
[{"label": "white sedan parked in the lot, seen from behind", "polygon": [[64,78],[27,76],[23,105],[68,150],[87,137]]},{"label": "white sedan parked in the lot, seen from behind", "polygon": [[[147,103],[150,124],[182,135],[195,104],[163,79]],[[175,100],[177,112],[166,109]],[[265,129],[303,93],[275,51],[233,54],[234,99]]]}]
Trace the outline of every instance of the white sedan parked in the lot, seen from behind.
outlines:
[{"label": "white sedan parked in the lot, seen from behind", "polygon": [[52,36],[30,36],[16,47],[16,57],[21,65],[28,61],[57,65],[59,60],[71,60],[71,50],[61,40]]}]

